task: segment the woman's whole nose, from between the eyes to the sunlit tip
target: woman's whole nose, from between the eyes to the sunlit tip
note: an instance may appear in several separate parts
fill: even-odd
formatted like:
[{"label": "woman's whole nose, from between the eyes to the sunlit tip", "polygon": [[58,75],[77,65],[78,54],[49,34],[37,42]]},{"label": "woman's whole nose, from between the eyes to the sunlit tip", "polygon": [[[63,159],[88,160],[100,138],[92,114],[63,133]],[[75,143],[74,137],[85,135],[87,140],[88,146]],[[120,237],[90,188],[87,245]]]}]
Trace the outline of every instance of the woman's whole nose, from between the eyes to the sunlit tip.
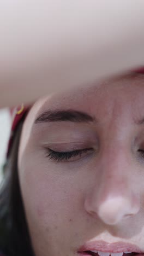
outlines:
[{"label": "woman's whole nose, from between the eyes to the sunlit tip", "polygon": [[[85,200],[86,211],[105,224],[116,225],[140,210],[133,167],[124,152],[101,156]],[[132,178],[131,178],[132,177]]]}]

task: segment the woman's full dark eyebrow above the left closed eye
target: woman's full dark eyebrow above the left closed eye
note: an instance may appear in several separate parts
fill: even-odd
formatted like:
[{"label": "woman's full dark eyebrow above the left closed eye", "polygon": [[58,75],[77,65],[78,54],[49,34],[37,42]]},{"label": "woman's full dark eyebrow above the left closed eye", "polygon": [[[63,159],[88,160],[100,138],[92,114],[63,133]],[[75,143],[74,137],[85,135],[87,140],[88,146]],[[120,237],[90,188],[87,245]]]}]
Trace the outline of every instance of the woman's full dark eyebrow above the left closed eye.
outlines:
[{"label": "woman's full dark eyebrow above the left closed eye", "polygon": [[34,124],[47,123],[47,122],[58,122],[58,121],[70,121],[75,123],[89,123],[97,121],[91,115],[77,111],[77,110],[47,110],[41,113]]}]

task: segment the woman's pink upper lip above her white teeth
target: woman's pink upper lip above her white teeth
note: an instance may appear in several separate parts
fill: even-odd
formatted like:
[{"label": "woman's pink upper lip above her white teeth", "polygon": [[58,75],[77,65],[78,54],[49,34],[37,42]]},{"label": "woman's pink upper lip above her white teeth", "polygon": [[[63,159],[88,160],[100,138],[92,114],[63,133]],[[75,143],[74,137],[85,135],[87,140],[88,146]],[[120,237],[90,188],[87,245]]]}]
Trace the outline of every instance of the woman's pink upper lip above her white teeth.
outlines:
[{"label": "woman's pink upper lip above her white teeth", "polygon": [[83,252],[83,251],[100,251],[100,252],[111,252],[111,253],[119,253],[119,252],[143,253],[139,247],[137,247],[136,245],[132,245],[131,243],[123,243],[123,242],[107,243],[104,241],[86,242],[85,245],[82,245],[78,250],[78,252]]}]

